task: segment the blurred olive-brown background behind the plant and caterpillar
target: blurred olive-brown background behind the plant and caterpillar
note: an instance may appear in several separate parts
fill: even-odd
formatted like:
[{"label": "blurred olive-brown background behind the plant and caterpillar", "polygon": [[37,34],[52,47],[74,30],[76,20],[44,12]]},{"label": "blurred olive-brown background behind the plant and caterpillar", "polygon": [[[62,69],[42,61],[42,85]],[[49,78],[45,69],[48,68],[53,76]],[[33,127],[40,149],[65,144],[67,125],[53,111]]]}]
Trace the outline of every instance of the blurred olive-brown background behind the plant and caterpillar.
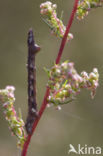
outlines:
[{"label": "blurred olive-brown background behind the plant and caterpillar", "polygon": [[[37,100],[40,107],[47,83],[43,67],[50,68],[57,56],[60,39],[50,35],[42,21],[39,5],[43,0],[0,0],[0,88],[16,87],[15,108],[27,115],[27,32],[30,27],[42,50],[37,55]],[[64,11],[65,25],[70,16],[73,0],[52,0],[58,5],[58,16]],[[64,49],[62,61],[75,62],[78,72],[91,72],[97,67],[100,86],[92,100],[84,90],[75,102],[61,111],[46,109],[32,137],[28,156],[68,156],[69,144],[77,148],[103,148],[103,8],[93,10],[84,20],[74,20],[71,28],[74,39]],[[103,150],[103,149],[102,149]],[[102,151],[103,152],[103,151]],[[19,156],[16,139],[11,137],[0,108],[0,155]],[[72,156],[72,154],[70,154]],[[74,154],[73,154],[74,155]]]}]

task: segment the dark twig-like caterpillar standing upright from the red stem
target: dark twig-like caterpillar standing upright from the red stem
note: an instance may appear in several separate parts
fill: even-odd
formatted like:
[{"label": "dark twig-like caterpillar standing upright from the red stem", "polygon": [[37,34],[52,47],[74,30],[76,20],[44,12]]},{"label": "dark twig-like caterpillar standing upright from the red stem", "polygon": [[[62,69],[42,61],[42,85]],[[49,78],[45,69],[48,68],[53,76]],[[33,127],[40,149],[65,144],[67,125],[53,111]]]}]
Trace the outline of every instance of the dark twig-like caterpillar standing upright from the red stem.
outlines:
[{"label": "dark twig-like caterpillar standing upright from the red stem", "polygon": [[32,133],[32,126],[35,119],[38,117],[37,102],[36,102],[36,67],[35,55],[40,51],[40,47],[35,44],[32,29],[28,33],[28,116],[26,119],[26,131]]}]

